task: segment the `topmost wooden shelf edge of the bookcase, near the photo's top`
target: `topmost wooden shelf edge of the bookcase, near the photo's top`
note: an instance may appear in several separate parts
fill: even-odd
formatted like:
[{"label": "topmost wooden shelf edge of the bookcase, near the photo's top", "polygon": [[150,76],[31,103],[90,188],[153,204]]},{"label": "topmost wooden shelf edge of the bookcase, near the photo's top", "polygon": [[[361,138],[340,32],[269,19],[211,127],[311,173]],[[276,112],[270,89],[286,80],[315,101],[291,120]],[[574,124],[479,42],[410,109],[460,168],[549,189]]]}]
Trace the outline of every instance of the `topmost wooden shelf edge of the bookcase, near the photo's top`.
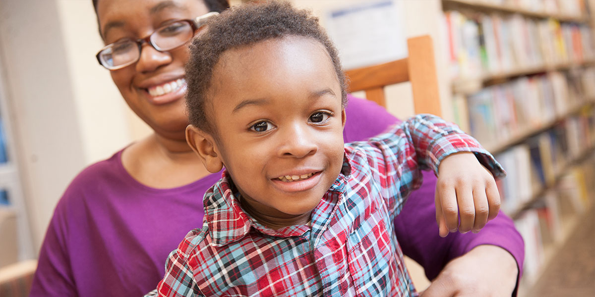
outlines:
[{"label": "topmost wooden shelf edge of the bookcase, near the photo's top", "polygon": [[472,0],[442,0],[443,7],[446,6],[459,6],[459,7],[469,7],[474,9],[481,9],[493,12],[503,12],[506,14],[522,14],[527,17],[534,17],[534,18],[555,18],[556,20],[563,21],[563,22],[572,22],[572,23],[587,23],[588,17],[587,15],[564,15],[564,14],[553,14],[549,12],[543,11],[532,11],[527,10],[525,8],[515,7],[513,5],[498,5],[498,4],[490,4],[487,2],[482,1],[472,1]]}]

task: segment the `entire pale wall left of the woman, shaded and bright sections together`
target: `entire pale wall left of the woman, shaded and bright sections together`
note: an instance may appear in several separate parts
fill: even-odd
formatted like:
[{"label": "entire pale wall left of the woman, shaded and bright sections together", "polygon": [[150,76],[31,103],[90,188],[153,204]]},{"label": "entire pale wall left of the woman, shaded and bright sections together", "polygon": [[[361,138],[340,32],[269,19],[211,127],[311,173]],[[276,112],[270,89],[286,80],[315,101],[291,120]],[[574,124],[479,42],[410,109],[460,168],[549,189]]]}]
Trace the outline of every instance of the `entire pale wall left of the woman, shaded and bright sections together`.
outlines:
[{"label": "entire pale wall left of the woman, shaded and bright sections together", "polygon": [[95,60],[90,0],[0,0],[0,58],[35,254],[80,170],[146,134]]}]

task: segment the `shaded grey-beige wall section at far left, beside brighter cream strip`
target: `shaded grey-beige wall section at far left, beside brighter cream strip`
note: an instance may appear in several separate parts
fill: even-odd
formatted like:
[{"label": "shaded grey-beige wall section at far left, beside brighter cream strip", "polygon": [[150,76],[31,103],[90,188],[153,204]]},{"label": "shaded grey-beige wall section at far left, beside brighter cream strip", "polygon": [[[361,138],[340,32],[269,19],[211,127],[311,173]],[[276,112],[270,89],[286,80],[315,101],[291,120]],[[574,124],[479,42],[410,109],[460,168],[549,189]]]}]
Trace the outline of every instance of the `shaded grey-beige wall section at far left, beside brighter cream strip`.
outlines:
[{"label": "shaded grey-beige wall section at far left, beside brighter cream strip", "polygon": [[1,0],[0,45],[33,235],[84,163],[54,1]]}]

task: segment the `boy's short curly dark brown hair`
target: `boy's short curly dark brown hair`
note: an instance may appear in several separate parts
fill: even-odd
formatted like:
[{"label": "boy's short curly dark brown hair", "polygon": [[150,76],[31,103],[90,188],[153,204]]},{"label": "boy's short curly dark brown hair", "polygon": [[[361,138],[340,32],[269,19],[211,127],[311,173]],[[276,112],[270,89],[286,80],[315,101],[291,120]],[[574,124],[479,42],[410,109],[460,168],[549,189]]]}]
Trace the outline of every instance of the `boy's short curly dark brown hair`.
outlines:
[{"label": "boy's short curly dark brown hair", "polygon": [[322,43],[333,62],[341,87],[342,106],[345,107],[345,73],[337,49],[318,24],[318,18],[309,11],[293,8],[289,2],[271,1],[226,10],[209,20],[205,32],[192,40],[186,64],[186,109],[190,124],[214,132],[206,116],[206,97],[212,84],[213,69],[223,52],[286,36],[308,37]]}]

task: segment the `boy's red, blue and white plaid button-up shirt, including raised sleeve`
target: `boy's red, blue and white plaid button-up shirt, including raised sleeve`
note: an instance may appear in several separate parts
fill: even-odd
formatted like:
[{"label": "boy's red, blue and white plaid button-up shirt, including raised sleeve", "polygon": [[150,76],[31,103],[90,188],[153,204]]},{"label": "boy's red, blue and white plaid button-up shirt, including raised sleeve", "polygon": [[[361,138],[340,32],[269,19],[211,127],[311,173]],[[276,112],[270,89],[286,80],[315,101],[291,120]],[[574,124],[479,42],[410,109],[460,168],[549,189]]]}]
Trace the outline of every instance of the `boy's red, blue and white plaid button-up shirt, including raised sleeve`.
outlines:
[{"label": "boy's red, blue and white plaid button-up shirt, including raised sleeve", "polygon": [[[342,172],[312,211],[311,226],[273,230],[240,207],[230,176],[205,194],[205,221],[171,252],[159,296],[417,296],[393,232],[419,169],[472,151],[500,165],[469,135],[418,115],[369,141],[345,145]],[[153,291],[149,295],[155,295]]]}]

